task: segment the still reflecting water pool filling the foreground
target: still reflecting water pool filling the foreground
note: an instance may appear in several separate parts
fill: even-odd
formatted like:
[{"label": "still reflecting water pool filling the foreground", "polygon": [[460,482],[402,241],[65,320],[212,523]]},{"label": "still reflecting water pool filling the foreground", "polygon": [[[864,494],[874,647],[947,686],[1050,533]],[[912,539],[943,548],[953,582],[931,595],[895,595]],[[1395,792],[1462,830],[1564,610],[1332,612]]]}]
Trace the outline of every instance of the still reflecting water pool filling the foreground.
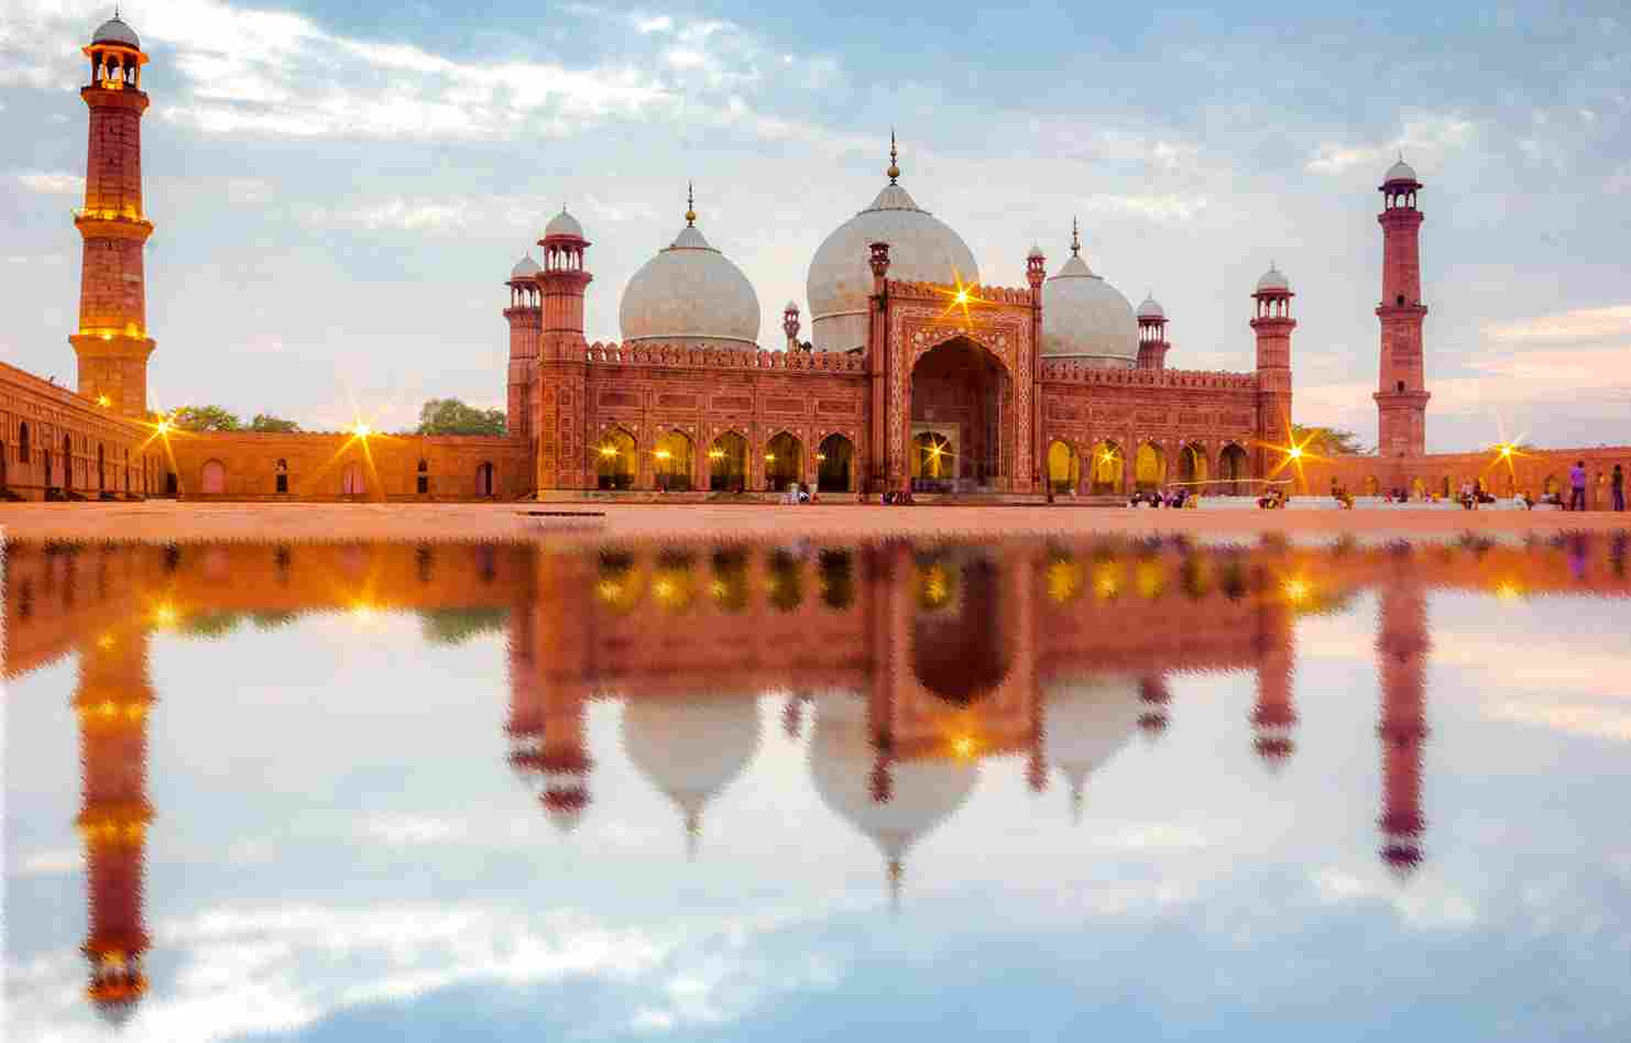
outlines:
[{"label": "still reflecting water pool filling the foreground", "polygon": [[1628,543],[11,543],[8,1023],[1631,1038]]}]

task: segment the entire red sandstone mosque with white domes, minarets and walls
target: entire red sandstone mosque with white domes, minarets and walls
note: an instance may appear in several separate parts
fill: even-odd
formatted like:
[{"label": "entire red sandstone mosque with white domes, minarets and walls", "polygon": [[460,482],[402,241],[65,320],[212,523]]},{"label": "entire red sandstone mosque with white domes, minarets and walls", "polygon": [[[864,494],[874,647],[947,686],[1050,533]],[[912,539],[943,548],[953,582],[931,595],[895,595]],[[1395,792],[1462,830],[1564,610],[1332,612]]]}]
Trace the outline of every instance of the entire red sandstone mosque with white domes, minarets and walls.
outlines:
[{"label": "entire red sandstone mosque with white domes, minarets and walls", "polygon": [[[171,435],[147,398],[148,57],[117,16],[85,55],[90,148],[75,215],[85,261],[69,337],[78,388],[0,365],[8,499],[705,499],[794,482],[830,495],[1036,499],[1171,481],[1243,494],[1287,469],[1297,321],[1280,271],[1271,266],[1251,292],[1251,370],[1171,368],[1161,305],[1134,310],[1093,272],[1075,231],[1052,275],[1032,248],[1023,285],[982,282],[967,244],[900,184],[894,145],[887,184],[811,261],[811,342],[798,339],[802,313],[789,301],[785,344],[760,345],[752,282],[708,243],[695,209],[623,288],[621,341],[590,342],[590,240],[563,210],[538,240],[541,259],[525,256],[507,279],[506,437],[387,437],[360,424]],[[1487,455],[1425,455],[1421,189],[1403,160],[1381,184],[1378,451],[1313,476],[1295,468],[1316,492],[1326,473],[1373,492],[1448,491],[1491,469]],[[1501,491],[1540,492],[1577,456],[1593,474],[1592,505],[1603,505],[1607,474],[1631,450],[1505,460]]]}]

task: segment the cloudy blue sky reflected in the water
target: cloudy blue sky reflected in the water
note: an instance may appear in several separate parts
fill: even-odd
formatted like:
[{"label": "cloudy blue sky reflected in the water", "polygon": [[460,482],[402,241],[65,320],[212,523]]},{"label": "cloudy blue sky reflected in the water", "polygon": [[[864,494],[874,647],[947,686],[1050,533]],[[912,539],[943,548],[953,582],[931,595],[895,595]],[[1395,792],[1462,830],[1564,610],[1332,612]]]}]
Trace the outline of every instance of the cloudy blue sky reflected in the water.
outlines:
[{"label": "cloudy blue sky reflected in the water", "polygon": [[[501,636],[426,645],[413,616],[344,613],[160,634],[152,992],[122,1038],[1621,1038],[1631,704],[1582,634],[1626,603],[1435,595],[1429,619],[1408,883],[1377,857],[1364,593],[1297,624],[1279,772],[1249,673],[1173,675],[1171,725],[1090,776],[1080,823],[1057,771],[1037,795],[1023,759],[985,759],[894,916],[877,849],[812,784],[820,704],[789,738],[763,696],[687,860],[621,704],[590,711],[584,820],[545,821],[504,763]],[[16,680],[5,737],[10,1023],[60,1043],[108,1038],[80,991],[73,686],[72,657]]]}]

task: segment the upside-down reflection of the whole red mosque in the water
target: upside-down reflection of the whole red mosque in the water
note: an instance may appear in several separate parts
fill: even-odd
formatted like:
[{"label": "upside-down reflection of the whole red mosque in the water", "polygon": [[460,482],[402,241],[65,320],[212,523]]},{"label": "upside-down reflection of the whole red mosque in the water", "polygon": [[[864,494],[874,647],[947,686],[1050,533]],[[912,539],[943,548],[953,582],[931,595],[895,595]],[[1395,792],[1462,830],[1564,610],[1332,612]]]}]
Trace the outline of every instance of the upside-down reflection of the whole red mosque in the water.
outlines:
[{"label": "upside-down reflection of the whole red mosque in the water", "polygon": [[[1584,538],[1582,538],[1584,539]],[[142,911],[152,631],[199,636],[300,611],[457,610],[507,627],[509,761],[543,813],[594,808],[594,699],[623,704],[633,764],[675,805],[695,852],[705,810],[755,756],[762,696],[811,730],[809,771],[871,838],[894,893],[915,843],[982,768],[1057,771],[1080,818],[1090,776],[1135,732],[1156,740],[1178,671],[1253,670],[1254,748],[1295,755],[1295,619],[1377,588],[1381,859],[1422,859],[1427,592],[1631,595],[1623,536],[1517,549],[1334,551],[1189,543],[874,543],[630,548],[475,544],[10,544],[8,675],[78,654],[90,926],[88,996],[122,1020],[147,989]],[[502,610],[502,614],[493,613]],[[478,624],[483,618],[478,616]],[[814,719],[814,720],[809,720]]]}]

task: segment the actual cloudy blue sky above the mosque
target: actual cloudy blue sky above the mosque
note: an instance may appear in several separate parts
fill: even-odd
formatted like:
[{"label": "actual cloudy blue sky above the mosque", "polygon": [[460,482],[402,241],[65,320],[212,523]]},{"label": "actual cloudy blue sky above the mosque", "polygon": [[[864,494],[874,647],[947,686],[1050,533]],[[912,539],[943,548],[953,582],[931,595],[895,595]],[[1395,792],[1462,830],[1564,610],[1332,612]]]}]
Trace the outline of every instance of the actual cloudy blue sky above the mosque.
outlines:
[{"label": "actual cloudy blue sky above the mosque", "polygon": [[[987,284],[1088,262],[1166,306],[1182,368],[1253,365],[1297,292],[1295,416],[1375,442],[1381,173],[1417,169],[1430,450],[1631,443],[1631,16],[1620,3],[1037,5],[135,0],[150,399],[387,427],[501,406],[509,267],[563,202],[590,341],[683,225],[760,344],[886,183]],[[0,357],[73,383],[78,47],[109,13],[0,0]],[[807,311],[807,310],[806,310]],[[806,326],[807,336],[807,326]]]}]

